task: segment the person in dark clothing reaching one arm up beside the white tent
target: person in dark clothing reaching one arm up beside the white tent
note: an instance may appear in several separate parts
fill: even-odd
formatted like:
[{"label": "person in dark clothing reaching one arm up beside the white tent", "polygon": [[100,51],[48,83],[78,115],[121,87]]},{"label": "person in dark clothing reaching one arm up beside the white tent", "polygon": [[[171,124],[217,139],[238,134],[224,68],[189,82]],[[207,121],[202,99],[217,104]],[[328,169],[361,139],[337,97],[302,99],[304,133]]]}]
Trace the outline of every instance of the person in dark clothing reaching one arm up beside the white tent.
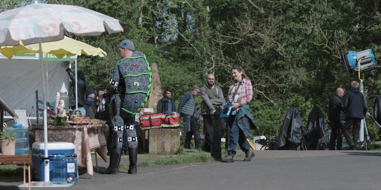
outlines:
[{"label": "person in dark clothing reaching one arm up beside the white tent", "polygon": [[[73,110],[75,113],[75,73],[69,68],[69,61],[65,62],[66,66],[66,72],[70,77],[71,84],[70,84],[70,90],[69,90],[69,101],[70,101],[70,109]],[[81,70],[77,71],[77,101],[78,101],[78,109],[81,111],[82,115],[86,114],[85,108],[84,108],[84,98],[87,97],[88,92],[88,84],[85,79],[85,73]]]}]

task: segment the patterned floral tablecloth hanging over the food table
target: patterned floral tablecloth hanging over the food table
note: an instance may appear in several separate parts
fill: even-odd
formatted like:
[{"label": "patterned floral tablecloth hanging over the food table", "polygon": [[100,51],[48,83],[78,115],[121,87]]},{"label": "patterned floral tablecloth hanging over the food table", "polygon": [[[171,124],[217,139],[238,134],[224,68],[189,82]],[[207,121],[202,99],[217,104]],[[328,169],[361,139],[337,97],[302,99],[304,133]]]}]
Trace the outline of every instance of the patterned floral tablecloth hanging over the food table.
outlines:
[{"label": "patterned floral tablecloth hanging over the food table", "polygon": [[[78,164],[85,165],[87,173],[94,174],[90,151],[95,150],[106,159],[106,125],[47,126],[48,142],[71,142],[75,145]],[[29,144],[44,142],[43,126],[29,127]]]}]

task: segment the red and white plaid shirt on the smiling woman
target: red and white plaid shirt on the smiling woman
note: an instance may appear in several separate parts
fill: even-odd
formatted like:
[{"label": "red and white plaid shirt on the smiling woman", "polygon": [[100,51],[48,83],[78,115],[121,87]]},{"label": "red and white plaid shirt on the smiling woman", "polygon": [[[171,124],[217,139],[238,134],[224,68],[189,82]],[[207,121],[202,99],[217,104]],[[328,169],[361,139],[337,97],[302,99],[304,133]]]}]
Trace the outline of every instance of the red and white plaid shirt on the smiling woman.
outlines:
[{"label": "red and white plaid shirt on the smiling woman", "polygon": [[252,101],[253,99],[252,82],[250,82],[250,80],[243,78],[242,83],[239,86],[238,92],[235,94],[235,97],[233,97],[235,88],[237,86],[238,86],[237,82],[233,82],[232,84],[230,84],[228,101],[230,103],[236,103],[236,102],[241,102],[243,100],[246,100],[247,103],[249,104],[249,102]]}]

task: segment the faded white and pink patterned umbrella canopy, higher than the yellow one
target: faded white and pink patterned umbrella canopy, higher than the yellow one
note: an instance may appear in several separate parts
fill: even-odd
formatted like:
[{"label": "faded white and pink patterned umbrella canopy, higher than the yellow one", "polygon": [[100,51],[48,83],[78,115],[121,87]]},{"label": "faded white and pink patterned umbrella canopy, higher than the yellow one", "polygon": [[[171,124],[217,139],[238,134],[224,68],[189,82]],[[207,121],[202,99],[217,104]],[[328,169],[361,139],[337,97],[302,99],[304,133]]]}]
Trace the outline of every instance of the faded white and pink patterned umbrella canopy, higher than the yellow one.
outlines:
[{"label": "faded white and pink patterned umbrella canopy, higher than the yellow one", "polygon": [[[37,1],[36,1],[37,2]],[[118,19],[79,6],[35,3],[0,13],[0,46],[63,39],[64,30],[78,36],[123,32]]]}]

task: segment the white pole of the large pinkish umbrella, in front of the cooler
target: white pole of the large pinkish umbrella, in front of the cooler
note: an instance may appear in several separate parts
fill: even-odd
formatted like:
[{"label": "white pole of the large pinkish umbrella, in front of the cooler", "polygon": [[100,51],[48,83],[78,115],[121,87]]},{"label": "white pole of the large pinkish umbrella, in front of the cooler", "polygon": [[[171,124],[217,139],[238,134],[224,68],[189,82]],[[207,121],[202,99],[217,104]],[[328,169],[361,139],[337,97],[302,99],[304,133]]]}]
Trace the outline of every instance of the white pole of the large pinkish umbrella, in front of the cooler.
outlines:
[{"label": "white pole of the large pinkish umbrella, in front of the cooler", "polygon": [[40,47],[40,62],[41,62],[41,71],[42,71],[42,100],[43,100],[43,140],[44,140],[44,182],[48,182],[50,179],[49,176],[49,158],[48,158],[48,149],[47,149],[47,114],[46,114],[46,88],[45,88],[45,79],[43,72],[43,60],[42,60],[42,45],[41,40],[39,42]]}]

